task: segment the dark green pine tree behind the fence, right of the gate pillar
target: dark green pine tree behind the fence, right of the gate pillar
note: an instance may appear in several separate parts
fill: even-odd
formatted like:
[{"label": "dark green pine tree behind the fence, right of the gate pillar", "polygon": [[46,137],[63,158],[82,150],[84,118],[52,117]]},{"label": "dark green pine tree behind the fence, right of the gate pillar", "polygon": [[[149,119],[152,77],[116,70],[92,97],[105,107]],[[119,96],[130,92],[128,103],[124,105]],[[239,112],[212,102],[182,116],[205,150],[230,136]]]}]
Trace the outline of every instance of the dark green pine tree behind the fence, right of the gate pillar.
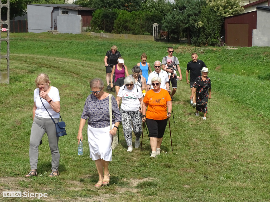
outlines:
[{"label": "dark green pine tree behind the fence, right of the gate pillar", "polygon": [[[191,43],[191,35],[197,32],[196,23],[201,12],[203,1],[176,0],[174,11],[167,14],[163,20],[167,31],[173,33],[179,39],[180,30],[187,32],[188,43]],[[179,34],[178,34],[179,33]]]}]

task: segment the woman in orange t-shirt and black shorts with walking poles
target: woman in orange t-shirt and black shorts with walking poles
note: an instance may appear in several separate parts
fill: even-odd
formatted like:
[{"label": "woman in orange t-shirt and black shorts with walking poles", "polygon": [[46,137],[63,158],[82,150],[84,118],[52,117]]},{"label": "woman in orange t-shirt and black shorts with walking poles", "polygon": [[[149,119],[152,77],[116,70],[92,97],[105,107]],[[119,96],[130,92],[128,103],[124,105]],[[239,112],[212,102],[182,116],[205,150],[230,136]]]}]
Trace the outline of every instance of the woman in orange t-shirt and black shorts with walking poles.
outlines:
[{"label": "woman in orange t-shirt and black shorts with walking poles", "polygon": [[[160,155],[164,131],[168,118],[171,117],[172,103],[168,91],[160,88],[161,78],[154,77],[151,82],[154,89],[147,91],[143,99],[142,121],[146,121],[149,130],[152,149],[150,157],[156,158],[157,155]],[[148,107],[147,112],[146,107]]]}]

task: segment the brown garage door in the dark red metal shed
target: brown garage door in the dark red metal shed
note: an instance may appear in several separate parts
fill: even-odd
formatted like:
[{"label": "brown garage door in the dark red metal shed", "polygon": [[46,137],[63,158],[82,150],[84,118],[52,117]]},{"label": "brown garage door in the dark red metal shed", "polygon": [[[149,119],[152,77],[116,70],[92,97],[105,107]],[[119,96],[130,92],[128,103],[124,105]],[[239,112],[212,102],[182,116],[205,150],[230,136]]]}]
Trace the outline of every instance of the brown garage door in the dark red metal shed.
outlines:
[{"label": "brown garage door in the dark red metal shed", "polygon": [[228,24],[227,46],[248,46],[248,24]]}]

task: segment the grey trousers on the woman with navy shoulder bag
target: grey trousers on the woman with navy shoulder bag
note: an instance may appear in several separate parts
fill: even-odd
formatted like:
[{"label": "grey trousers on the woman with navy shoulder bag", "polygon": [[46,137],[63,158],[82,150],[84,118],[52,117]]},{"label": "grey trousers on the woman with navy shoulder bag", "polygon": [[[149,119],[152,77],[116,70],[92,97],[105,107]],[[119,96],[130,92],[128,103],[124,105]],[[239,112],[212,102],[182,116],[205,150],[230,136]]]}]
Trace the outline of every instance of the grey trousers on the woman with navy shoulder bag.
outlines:
[{"label": "grey trousers on the woman with navy shoulder bag", "polygon": [[[55,123],[59,122],[59,118],[54,120]],[[42,118],[38,116],[35,116],[34,118],[30,135],[29,159],[31,169],[37,169],[38,147],[40,140],[45,133],[48,135],[49,147],[52,154],[52,170],[58,170],[60,159],[58,150],[59,137],[56,137],[55,124],[51,118]]]}]

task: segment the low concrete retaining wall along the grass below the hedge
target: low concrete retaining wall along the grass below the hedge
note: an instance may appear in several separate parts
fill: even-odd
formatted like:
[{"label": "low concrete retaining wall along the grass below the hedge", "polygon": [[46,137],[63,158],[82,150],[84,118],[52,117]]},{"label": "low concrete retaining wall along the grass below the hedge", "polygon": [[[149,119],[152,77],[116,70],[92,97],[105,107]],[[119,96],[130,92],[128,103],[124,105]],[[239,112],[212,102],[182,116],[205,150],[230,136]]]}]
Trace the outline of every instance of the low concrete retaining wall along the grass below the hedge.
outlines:
[{"label": "low concrete retaining wall along the grass below the hedge", "polygon": [[131,40],[149,40],[154,41],[154,36],[146,35],[133,35],[133,34],[110,34],[110,33],[95,33],[95,32],[82,32],[82,34],[90,36],[99,36],[112,39],[131,39]]}]

